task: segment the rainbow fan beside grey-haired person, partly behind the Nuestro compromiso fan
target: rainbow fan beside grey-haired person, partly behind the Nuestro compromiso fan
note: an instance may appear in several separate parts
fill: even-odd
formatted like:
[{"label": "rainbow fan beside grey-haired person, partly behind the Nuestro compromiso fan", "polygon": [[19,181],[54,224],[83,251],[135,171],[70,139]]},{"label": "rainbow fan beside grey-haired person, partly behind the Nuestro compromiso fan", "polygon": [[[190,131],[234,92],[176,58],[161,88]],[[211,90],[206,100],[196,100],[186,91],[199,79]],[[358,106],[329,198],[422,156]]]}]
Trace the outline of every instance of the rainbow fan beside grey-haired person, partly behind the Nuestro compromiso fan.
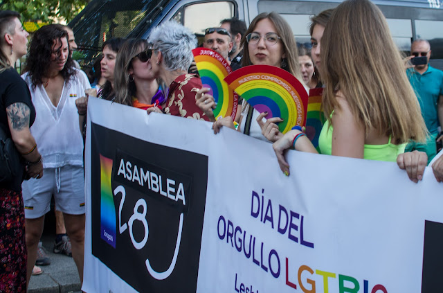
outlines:
[{"label": "rainbow fan beside grey-haired person, partly behind the Nuestro compromiso fan", "polygon": [[214,109],[216,119],[230,116],[235,118],[237,113],[238,96],[224,78],[232,72],[230,66],[221,55],[208,48],[195,48],[192,50],[194,60],[199,71],[201,83],[210,88],[208,94],[214,97],[217,107]]}]

